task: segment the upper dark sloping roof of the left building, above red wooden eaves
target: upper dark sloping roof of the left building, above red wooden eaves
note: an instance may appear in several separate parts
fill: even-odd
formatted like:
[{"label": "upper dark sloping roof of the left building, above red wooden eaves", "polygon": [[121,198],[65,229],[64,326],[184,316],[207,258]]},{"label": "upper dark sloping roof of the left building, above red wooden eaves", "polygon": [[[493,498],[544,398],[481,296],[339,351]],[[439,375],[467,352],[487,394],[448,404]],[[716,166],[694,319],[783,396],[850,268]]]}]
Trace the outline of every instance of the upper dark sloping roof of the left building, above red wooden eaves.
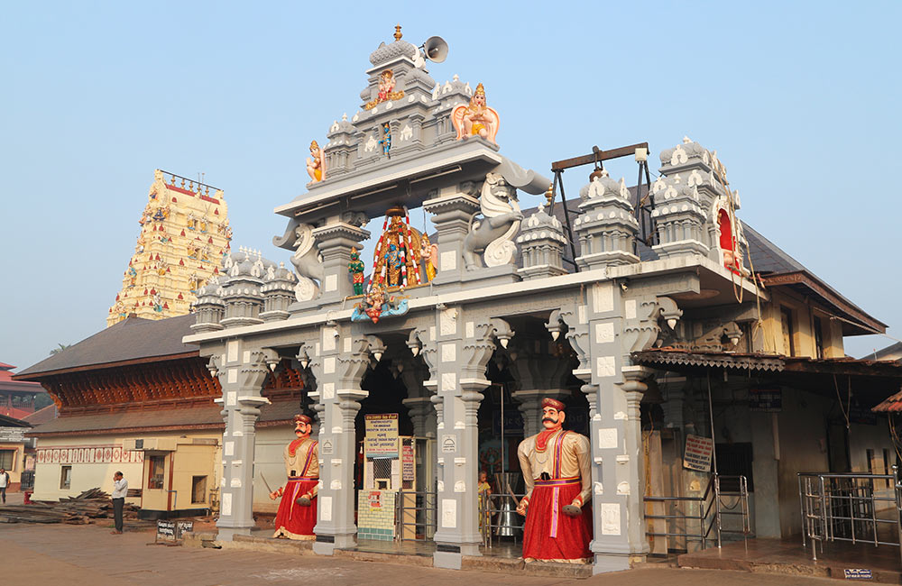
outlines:
[{"label": "upper dark sloping roof of the left building, above red wooden eaves", "polygon": [[194,324],[195,318],[191,314],[160,320],[128,317],[15,376],[28,377],[41,372],[64,371],[81,366],[197,353],[198,346],[181,342],[183,336],[191,333],[190,326]]}]

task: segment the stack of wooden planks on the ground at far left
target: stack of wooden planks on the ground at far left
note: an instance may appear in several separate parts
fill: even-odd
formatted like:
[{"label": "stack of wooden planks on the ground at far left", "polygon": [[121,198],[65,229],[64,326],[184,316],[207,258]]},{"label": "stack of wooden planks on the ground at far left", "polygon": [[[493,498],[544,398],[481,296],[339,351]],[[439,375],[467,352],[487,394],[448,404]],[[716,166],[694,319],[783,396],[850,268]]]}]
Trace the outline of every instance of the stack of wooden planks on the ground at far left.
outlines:
[{"label": "stack of wooden planks on the ground at far left", "polygon": [[[138,508],[125,504],[123,517],[137,518]],[[112,518],[113,502],[100,489],[85,490],[59,502],[33,500],[31,505],[0,505],[0,523],[69,523],[84,525],[92,518]]]}]

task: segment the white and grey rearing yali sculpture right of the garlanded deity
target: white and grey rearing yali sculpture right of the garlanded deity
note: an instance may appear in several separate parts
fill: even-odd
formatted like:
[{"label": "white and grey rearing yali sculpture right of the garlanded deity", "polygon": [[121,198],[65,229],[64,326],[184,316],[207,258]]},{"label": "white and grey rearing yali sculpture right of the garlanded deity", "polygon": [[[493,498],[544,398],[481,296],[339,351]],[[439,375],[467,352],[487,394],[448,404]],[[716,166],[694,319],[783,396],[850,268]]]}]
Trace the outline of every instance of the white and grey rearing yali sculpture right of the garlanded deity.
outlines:
[{"label": "white and grey rearing yali sculpture right of the garlanded deity", "polygon": [[489,267],[510,264],[517,252],[513,236],[520,230],[523,219],[517,190],[511,188],[501,175],[489,173],[485,176],[479,205],[483,219],[473,222],[464,240],[466,270],[483,267],[477,254],[479,251],[484,251],[485,264]]}]

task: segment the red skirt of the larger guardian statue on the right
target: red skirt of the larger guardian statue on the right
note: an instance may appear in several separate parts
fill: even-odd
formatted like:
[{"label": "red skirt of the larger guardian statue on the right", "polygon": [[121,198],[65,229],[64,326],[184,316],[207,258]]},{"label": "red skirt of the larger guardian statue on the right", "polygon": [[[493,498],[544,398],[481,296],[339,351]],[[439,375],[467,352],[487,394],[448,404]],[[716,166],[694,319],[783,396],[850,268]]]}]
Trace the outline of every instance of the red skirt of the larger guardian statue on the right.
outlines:
[{"label": "red skirt of the larger guardian statue on the right", "polygon": [[592,559],[592,503],[583,514],[569,517],[561,510],[581,490],[580,481],[536,481],[523,525],[523,559],[581,562]]}]

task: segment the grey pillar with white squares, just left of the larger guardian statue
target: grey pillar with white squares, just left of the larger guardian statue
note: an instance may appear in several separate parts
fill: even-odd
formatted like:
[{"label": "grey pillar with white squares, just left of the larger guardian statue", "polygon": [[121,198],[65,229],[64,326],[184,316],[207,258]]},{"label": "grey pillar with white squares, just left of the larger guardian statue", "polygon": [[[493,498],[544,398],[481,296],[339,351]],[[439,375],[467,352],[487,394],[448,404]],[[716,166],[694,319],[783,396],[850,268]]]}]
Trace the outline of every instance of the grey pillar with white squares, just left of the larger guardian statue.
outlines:
[{"label": "grey pillar with white squares, just left of the larger guardian statue", "polygon": [[422,340],[423,356],[437,389],[438,527],[434,537],[437,567],[460,569],[464,555],[479,555],[475,487],[479,468],[477,412],[482,391],[491,385],[485,366],[495,340],[508,340],[511,328],[500,319],[465,316],[459,307],[437,312],[437,326]]}]

